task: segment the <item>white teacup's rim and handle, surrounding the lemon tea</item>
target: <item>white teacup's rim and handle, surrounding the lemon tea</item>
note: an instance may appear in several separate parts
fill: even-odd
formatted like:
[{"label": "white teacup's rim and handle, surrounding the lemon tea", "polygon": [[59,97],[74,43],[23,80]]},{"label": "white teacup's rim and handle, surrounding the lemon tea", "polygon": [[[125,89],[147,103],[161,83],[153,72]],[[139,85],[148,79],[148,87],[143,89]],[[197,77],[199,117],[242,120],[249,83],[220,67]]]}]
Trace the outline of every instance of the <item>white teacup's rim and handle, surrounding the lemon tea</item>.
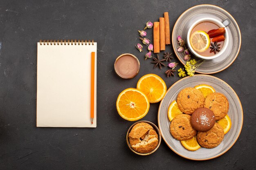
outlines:
[{"label": "white teacup's rim and handle, surrounding the lemon tea", "polygon": [[[192,46],[191,46],[191,44],[190,44],[190,35],[191,35],[191,31],[193,30],[193,28],[194,28],[197,24],[199,24],[199,23],[201,23],[201,22],[212,22],[212,23],[218,25],[220,28],[224,27],[225,30],[226,30],[226,32],[225,32],[225,34],[224,34],[224,36],[225,36],[224,44],[223,44],[223,46],[222,46],[220,52],[216,53],[215,55],[212,55],[212,56],[203,56],[203,55],[200,55],[200,54],[198,54],[198,53],[192,48]],[[200,20],[197,20],[196,22],[194,22],[194,23],[190,26],[189,31],[188,31],[188,34],[187,34],[187,38],[186,38],[187,45],[188,45],[188,48],[189,48],[189,50],[191,51],[191,53],[193,53],[193,55],[195,55],[196,57],[199,57],[199,58],[204,59],[204,60],[211,60],[211,59],[213,59],[213,58],[216,58],[216,57],[219,57],[220,55],[222,55],[222,54],[224,53],[224,51],[227,49],[227,45],[228,45],[228,43],[229,43],[229,34],[227,33],[227,28],[226,28],[226,26],[228,26],[229,24],[230,24],[230,20],[229,20],[229,19],[227,19],[227,20],[225,20],[225,21],[223,21],[223,22],[220,22],[219,20],[216,20],[216,19],[214,19],[214,18],[201,18]]]}]

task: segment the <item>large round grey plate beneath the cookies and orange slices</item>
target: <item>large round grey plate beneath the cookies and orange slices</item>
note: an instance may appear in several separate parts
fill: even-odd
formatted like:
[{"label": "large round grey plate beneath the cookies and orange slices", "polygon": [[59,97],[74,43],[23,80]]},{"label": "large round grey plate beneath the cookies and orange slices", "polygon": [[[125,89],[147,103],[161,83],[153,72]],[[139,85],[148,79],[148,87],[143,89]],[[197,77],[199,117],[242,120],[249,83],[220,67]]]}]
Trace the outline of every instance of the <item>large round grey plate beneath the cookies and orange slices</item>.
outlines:
[{"label": "large round grey plate beneath the cookies and orange slices", "polygon": [[[216,92],[224,94],[229,101],[228,115],[231,119],[231,129],[224,136],[219,146],[212,149],[200,148],[196,151],[186,150],[180,141],[174,139],[170,132],[171,122],[167,116],[168,106],[173,100],[176,100],[178,93],[186,87],[194,87],[199,84],[208,84],[212,86]],[[164,99],[160,103],[158,110],[158,126],[162,134],[162,138],[166,144],[178,155],[193,160],[207,160],[216,158],[229,150],[238,139],[243,125],[243,108],[236,92],[224,81],[211,75],[194,75],[185,77],[173,84],[167,91]]]}]

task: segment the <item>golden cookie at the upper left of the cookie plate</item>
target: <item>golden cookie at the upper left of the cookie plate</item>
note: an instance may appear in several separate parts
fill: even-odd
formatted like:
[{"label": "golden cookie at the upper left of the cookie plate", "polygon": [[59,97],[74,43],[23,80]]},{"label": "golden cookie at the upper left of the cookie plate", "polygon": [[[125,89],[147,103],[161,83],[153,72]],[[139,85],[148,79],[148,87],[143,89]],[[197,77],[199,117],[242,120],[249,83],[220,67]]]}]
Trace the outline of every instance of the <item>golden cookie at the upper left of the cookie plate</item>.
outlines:
[{"label": "golden cookie at the upper left of the cookie plate", "polygon": [[204,106],[204,95],[198,89],[184,88],[177,96],[177,104],[183,113],[191,115],[195,109]]}]

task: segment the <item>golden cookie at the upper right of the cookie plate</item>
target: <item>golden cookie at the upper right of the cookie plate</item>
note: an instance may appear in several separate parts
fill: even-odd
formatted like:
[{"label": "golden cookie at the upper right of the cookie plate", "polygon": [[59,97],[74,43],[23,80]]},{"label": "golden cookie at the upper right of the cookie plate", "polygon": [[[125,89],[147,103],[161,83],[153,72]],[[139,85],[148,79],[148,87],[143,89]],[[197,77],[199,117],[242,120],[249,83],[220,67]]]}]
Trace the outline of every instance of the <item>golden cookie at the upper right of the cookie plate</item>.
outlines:
[{"label": "golden cookie at the upper right of the cookie plate", "polygon": [[213,111],[216,120],[220,120],[229,111],[229,101],[222,93],[211,93],[205,98],[204,107]]}]

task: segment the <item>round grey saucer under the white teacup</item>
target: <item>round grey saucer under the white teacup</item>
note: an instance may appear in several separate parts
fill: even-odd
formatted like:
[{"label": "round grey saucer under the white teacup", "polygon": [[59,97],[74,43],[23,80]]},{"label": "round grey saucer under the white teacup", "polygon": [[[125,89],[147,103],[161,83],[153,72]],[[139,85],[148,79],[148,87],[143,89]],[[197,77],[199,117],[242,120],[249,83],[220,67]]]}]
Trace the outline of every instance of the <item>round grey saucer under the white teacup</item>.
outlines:
[{"label": "round grey saucer under the white teacup", "polygon": [[[205,17],[215,18],[221,22],[229,18],[231,21],[231,24],[227,26],[229,44],[225,52],[220,57],[217,57],[213,60],[205,60],[204,63],[201,64],[196,70],[197,73],[213,74],[228,68],[236,60],[236,57],[240,51],[240,29],[236,23],[236,20],[230,15],[230,13],[220,7],[209,4],[191,7],[182,13],[182,15],[180,15],[180,17],[177,19],[173,27],[172,44],[173,50],[178,59],[183,65],[185,65],[186,61],[183,60],[184,53],[177,52],[177,47],[179,46],[177,43],[177,36],[180,35],[183,39],[186,38],[189,27],[193,24],[193,22]],[[198,58],[195,59],[199,60]]]}]

